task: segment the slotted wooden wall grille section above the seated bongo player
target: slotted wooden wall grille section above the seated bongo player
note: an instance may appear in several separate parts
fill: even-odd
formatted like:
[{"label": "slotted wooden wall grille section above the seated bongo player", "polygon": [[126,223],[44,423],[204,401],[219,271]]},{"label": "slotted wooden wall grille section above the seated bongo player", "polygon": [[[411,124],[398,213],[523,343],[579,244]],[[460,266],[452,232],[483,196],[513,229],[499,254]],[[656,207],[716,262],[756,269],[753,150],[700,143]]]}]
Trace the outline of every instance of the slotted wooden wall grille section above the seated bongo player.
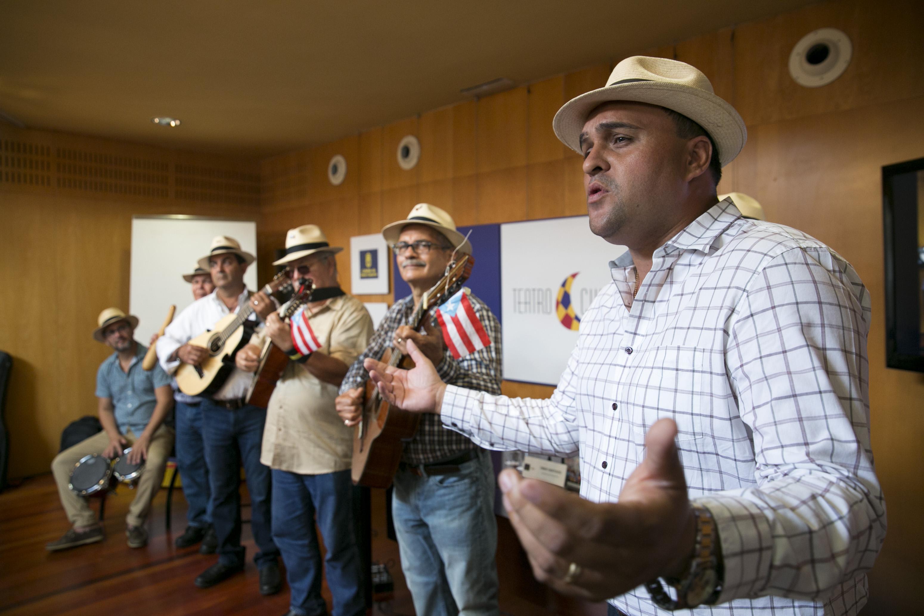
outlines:
[{"label": "slotted wooden wall grille section above the seated bongo player", "polygon": [[57,187],[168,199],[170,163],[134,156],[55,148]]}]

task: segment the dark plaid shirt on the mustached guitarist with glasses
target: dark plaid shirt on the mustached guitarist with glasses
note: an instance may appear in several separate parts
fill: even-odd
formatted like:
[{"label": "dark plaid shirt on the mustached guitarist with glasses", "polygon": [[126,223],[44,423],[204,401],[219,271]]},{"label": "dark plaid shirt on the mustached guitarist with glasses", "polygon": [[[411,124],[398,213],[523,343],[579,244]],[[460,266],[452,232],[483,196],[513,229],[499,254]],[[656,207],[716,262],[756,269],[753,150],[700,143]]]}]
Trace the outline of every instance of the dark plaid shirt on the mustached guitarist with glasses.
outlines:
[{"label": "dark plaid shirt on the mustached guitarist with glasses", "polygon": [[[437,372],[447,383],[453,383],[469,390],[487,393],[501,393],[501,324],[493,315],[491,308],[473,294],[468,294],[471,306],[475,309],[484,331],[491,338],[491,344],[469,354],[455,359],[448,350],[444,350],[443,361],[436,367]],[[436,308],[431,308],[431,317]],[[390,348],[395,330],[407,325],[414,313],[414,297],[407,296],[395,302],[379,323],[378,329],[372,336],[366,351],[359,356],[346,372],[340,393],[360,387],[369,379],[369,372],[362,367],[366,357],[376,359],[382,357],[385,349]],[[460,453],[475,449],[475,445],[467,437],[458,432],[445,429],[440,417],[427,413],[420,416],[420,426],[417,435],[405,444],[402,460],[409,465],[429,465],[434,462],[450,460]]]}]

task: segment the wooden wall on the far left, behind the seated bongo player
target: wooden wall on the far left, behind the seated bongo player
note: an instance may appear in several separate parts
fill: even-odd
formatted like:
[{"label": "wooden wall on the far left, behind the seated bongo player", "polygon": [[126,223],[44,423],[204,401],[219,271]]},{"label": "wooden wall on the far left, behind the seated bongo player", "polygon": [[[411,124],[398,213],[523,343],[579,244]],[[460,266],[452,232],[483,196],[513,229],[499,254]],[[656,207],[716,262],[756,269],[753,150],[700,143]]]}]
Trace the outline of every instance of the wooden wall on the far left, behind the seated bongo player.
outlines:
[{"label": "wooden wall on the far left, behind the seated bongo player", "polygon": [[[14,155],[51,161],[31,170],[47,175],[45,183],[22,184],[0,170],[0,320],[16,323],[0,328],[0,348],[14,361],[9,473],[23,477],[47,472],[61,430],[96,414],[96,369],[110,350],[91,332],[103,308],[128,309],[132,216],[259,222],[259,204],[251,202],[254,194],[259,200],[261,165],[3,126],[0,148],[6,144],[18,144],[5,152],[6,162],[16,163]],[[59,187],[59,180],[68,181]],[[152,190],[132,189],[146,186]],[[166,187],[166,195],[155,187]]]}]

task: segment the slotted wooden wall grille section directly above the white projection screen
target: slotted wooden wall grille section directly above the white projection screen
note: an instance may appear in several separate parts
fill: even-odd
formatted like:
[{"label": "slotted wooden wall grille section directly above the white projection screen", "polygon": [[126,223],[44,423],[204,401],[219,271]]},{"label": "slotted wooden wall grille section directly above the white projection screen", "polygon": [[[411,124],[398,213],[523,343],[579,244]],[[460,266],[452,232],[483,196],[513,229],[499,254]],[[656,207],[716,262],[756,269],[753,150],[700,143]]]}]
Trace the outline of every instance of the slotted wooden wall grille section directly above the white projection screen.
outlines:
[{"label": "slotted wooden wall grille section directly above the white projection screen", "polygon": [[260,174],[194,164],[176,164],[176,199],[260,205]]}]

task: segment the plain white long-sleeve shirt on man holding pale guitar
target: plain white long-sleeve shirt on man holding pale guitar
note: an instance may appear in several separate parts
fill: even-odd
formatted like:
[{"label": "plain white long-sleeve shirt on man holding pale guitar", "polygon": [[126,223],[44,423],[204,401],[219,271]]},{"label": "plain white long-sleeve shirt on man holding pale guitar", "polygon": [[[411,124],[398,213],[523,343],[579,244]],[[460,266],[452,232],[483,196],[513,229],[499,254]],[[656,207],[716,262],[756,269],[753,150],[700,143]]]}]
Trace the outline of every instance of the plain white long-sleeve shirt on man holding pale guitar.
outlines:
[{"label": "plain white long-sleeve shirt on man holding pale guitar", "polygon": [[[245,288],[243,293],[237,297],[235,314],[242,306],[247,305],[248,298],[249,291]],[[215,323],[229,314],[231,311],[225,306],[225,302],[218,298],[217,289],[190,304],[179,313],[173,322],[167,325],[164,335],[157,339],[157,358],[161,362],[161,368],[164,368],[167,374],[174,374],[180,365],[179,359],[169,360],[174,351],[202,332],[211,330]],[[256,314],[251,314],[248,320],[257,320]],[[253,380],[251,373],[234,368],[225,380],[225,384],[213,393],[212,397],[215,400],[243,398],[247,395],[251,380]]]}]

